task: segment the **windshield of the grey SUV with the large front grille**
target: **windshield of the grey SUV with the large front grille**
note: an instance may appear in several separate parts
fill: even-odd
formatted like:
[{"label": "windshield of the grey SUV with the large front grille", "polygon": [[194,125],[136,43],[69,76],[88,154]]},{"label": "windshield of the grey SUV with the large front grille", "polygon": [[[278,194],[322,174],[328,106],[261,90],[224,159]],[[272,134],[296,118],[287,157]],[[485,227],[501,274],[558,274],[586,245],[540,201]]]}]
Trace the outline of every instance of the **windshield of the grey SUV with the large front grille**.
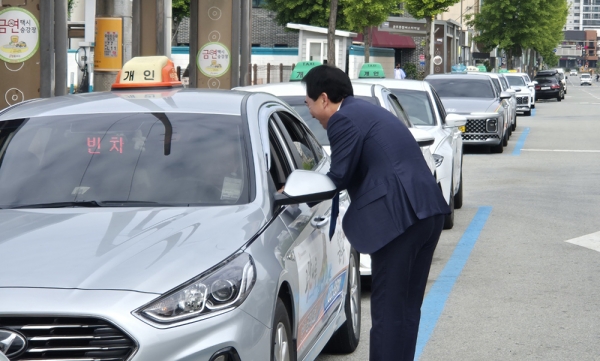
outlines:
[{"label": "windshield of the grey SUV with the large front grille", "polygon": [[427,79],[442,98],[486,98],[496,95],[488,79],[434,78]]}]

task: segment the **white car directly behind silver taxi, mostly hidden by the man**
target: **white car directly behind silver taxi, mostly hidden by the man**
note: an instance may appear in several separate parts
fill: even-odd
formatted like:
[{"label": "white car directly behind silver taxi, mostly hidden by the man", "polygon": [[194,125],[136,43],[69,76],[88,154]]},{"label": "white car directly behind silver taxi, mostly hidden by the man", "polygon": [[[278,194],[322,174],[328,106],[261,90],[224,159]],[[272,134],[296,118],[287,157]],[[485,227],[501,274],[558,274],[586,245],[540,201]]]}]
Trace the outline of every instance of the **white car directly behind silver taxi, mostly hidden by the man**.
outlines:
[{"label": "white car directly behind silver taxi, mostly hidden by the man", "polygon": [[[419,143],[419,145],[421,146],[423,157],[427,161],[429,169],[435,177],[438,177],[436,160],[433,157],[430,150],[430,146],[435,145],[435,138],[432,135],[430,135],[427,131],[419,129],[412,125],[412,123],[409,121],[410,116],[406,114],[406,112],[398,102],[396,95],[394,95],[390,89],[387,89],[384,86],[378,84],[369,84],[353,81],[352,88],[354,90],[355,98],[363,99],[373,104],[381,105],[390,112],[394,113],[396,116],[398,116],[400,120],[407,124],[412,135],[417,140],[417,143]],[[318,120],[314,119],[310,115],[308,107],[304,103],[304,99],[306,96],[306,87],[301,82],[252,85],[234,88],[234,90],[270,93],[286,101],[290,106],[292,106],[296,110],[296,112],[298,112],[298,114],[300,114],[302,119],[306,122],[310,130],[318,139],[319,143],[321,143],[325,147],[325,150],[327,152],[330,152],[327,131],[323,129],[323,126],[321,125],[321,123],[319,123]],[[368,254],[360,255],[360,275],[371,275],[371,257]]]}]

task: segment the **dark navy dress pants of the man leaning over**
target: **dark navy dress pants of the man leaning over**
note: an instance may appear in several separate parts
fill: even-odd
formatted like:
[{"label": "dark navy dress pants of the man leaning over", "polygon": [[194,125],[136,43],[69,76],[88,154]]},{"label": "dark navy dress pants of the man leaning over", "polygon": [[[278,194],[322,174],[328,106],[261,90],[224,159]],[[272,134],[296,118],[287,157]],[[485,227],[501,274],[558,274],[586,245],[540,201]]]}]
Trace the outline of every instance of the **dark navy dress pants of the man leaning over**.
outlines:
[{"label": "dark navy dress pants of the man leaning over", "polygon": [[444,216],[417,221],[371,254],[370,361],[413,361],[421,304]]}]

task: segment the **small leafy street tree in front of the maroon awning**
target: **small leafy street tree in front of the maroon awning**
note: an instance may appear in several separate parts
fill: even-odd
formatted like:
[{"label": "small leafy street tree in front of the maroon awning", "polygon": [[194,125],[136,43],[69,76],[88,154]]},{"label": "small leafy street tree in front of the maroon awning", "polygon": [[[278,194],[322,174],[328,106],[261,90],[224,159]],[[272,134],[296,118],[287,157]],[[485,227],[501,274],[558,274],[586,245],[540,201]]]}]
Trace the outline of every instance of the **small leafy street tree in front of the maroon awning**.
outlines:
[{"label": "small leafy street tree in front of the maroon awning", "polygon": [[388,16],[399,14],[400,0],[341,0],[348,30],[363,34],[365,63],[369,62],[371,28],[379,26]]}]

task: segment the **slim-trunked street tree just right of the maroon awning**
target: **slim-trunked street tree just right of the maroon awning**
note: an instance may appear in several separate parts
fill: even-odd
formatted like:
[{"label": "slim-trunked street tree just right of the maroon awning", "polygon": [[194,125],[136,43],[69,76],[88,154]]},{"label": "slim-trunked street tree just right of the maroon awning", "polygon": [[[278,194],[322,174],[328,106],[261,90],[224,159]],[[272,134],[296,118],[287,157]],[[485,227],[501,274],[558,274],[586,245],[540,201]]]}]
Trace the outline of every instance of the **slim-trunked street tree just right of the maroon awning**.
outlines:
[{"label": "slim-trunked street tree just right of the maroon awning", "polygon": [[[461,0],[404,0],[406,11],[415,19],[425,19],[427,28],[426,49],[425,49],[425,74],[430,73],[431,61],[431,42],[433,41],[432,25],[435,17],[448,11],[448,8]],[[486,0],[484,3],[487,3]],[[529,0],[528,0],[529,1]]]}]

